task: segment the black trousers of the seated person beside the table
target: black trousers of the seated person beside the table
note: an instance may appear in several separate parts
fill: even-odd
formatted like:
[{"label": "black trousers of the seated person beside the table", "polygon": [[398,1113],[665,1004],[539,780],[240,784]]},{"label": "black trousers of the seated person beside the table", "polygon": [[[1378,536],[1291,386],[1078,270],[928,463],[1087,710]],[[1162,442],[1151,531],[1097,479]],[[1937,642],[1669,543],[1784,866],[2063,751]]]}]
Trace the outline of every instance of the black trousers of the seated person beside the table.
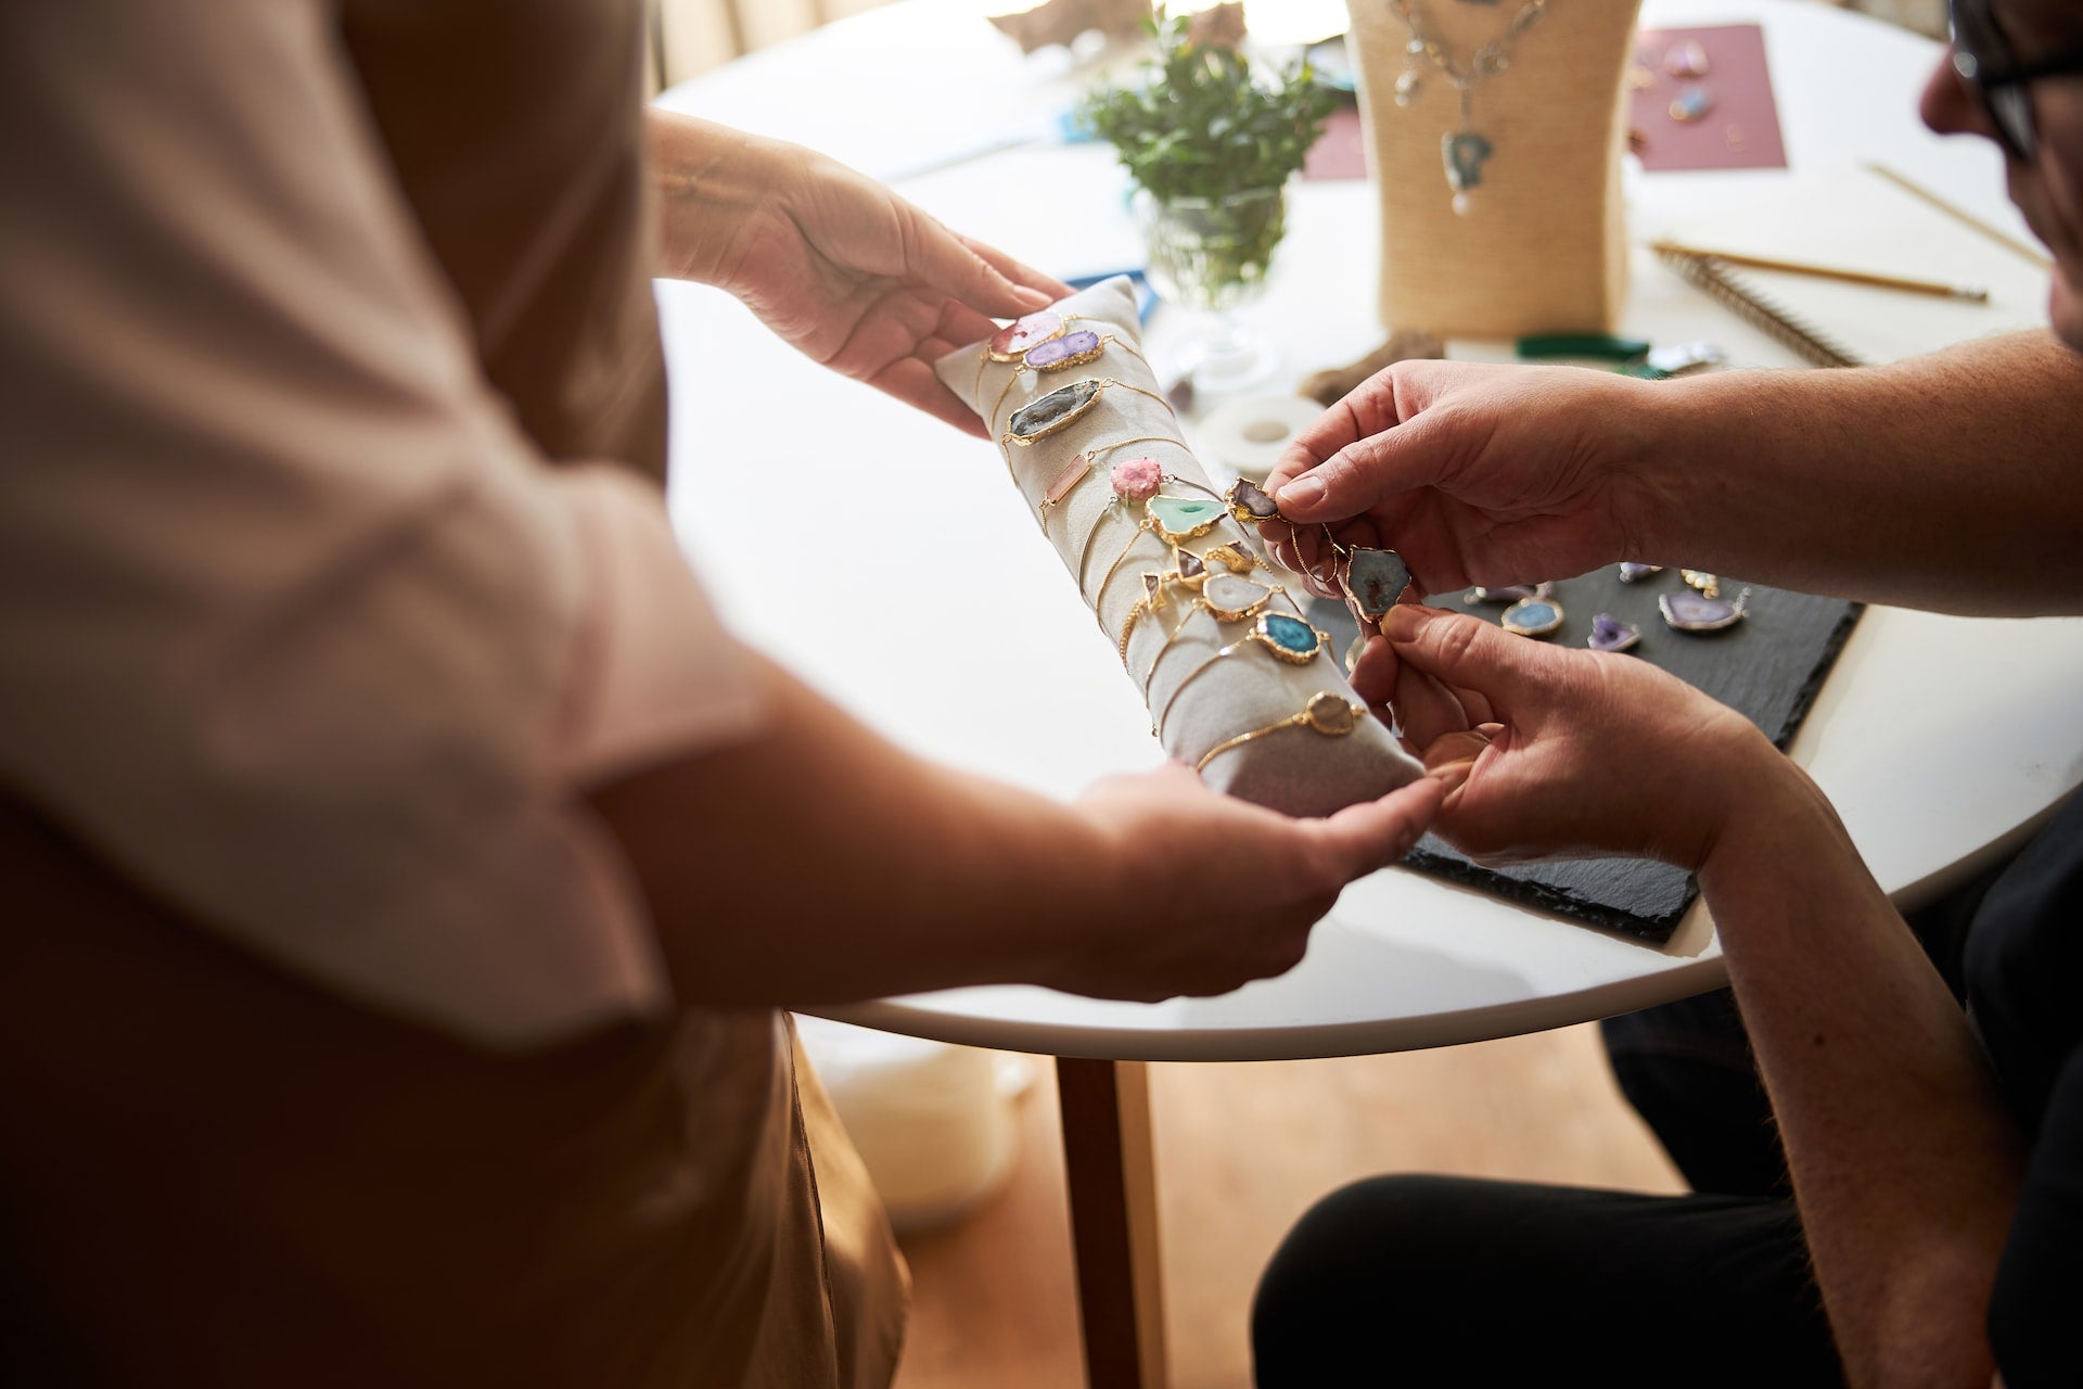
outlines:
[{"label": "black trousers of the seated person beside the table", "polygon": [[[1993,877],[1910,920],[1956,993]],[[1843,1383],[1735,1002],[1681,1000],[1604,1035],[1693,1193],[1425,1175],[1344,1187],[1260,1279],[1260,1389]]]}]

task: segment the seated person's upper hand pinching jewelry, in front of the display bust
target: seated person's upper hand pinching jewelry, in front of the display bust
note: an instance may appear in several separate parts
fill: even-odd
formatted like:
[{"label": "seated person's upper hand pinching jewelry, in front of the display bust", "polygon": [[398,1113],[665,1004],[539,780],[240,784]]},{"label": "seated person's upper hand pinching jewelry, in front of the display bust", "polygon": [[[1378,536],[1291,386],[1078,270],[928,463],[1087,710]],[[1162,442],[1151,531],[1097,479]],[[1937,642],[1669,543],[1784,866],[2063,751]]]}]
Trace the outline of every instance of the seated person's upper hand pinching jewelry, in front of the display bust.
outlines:
[{"label": "seated person's upper hand pinching jewelry, in front of the display bust", "polygon": [[1287,446],[1266,539],[1323,596],[1321,525],[1400,552],[1421,594],[1641,558],[1654,402],[1654,383],[1581,367],[1398,362]]}]

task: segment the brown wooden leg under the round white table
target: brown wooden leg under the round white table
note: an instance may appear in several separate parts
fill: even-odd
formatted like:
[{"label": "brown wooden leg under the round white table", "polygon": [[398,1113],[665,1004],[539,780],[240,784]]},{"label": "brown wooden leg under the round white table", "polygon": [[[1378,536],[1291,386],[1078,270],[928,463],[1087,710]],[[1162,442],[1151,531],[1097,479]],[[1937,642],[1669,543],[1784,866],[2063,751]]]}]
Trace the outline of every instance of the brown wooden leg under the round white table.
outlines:
[{"label": "brown wooden leg under the round white table", "polygon": [[1091,1389],[1164,1389],[1158,1191],[1144,1062],[1056,1058]]}]

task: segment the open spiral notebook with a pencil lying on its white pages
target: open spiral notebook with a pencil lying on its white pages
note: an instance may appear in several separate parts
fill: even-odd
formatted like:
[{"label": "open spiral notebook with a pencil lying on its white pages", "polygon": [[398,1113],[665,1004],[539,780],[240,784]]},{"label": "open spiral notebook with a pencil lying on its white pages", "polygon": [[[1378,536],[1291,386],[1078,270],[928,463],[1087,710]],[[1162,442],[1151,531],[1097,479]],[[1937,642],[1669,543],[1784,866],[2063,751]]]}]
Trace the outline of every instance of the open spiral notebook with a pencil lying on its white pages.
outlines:
[{"label": "open spiral notebook with a pencil lying on its white pages", "polygon": [[1727,250],[1987,289],[1987,302],[1735,267],[1664,260],[1691,285],[1821,367],[1866,367],[2048,323],[2043,254],[1973,225],[1875,169],[1798,179],[1737,214],[1664,229]]}]

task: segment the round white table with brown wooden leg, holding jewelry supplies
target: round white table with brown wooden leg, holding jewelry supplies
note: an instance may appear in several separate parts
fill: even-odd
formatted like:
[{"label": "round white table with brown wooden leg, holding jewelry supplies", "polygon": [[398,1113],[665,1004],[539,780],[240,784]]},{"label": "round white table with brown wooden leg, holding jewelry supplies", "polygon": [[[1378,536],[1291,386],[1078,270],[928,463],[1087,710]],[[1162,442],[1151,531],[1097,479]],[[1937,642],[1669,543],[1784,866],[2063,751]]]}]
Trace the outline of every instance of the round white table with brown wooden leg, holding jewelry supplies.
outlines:
[{"label": "round white table with brown wooden leg, holding jewelry supplies", "polygon": [[[831,152],[950,225],[1071,277],[1139,264],[1125,175],[1104,146],[1050,140],[1089,77],[1064,50],[1023,58],[977,0],[906,0],[758,52],[662,104]],[[1254,4],[1254,15],[1260,10]],[[1264,6],[1269,12],[1279,6]],[[1312,6],[1321,10],[1323,6]],[[1310,23],[1308,19],[1300,23]],[[1629,177],[1631,235],[1698,221],[1814,173],[1881,160],[2023,235],[2002,165],[1914,115],[1939,48],[1802,0],[1650,0],[1643,25],[1762,23],[1789,171]],[[1333,6],[1331,27],[1337,15]],[[1375,196],[1302,183],[1254,323],[1300,377],[1381,339]],[[673,521],[750,643],[892,739],[1054,795],[1152,766],[1137,691],[1033,533],[994,450],[796,356],[723,294],[660,285],[673,371]],[[1710,337],[1743,364],[1793,367],[1637,256],[1621,329]],[[1148,329],[1160,367],[1181,325]],[[1452,344],[1508,358],[1508,344]],[[844,500],[850,527],[796,531],[785,498]],[[937,658],[875,618],[837,618],[835,581],[929,610]],[[950,700],[950,689],[987,698]],[[1843,814],[1898,902],[2014,848],[2083,781],[2083,621],[1971,621],[1868,608],[1791,756]],[[1964,733],[1966,731],[1966,733]],[[979,916],[992,904],[977,902]],[[1354,883],[1308,958],[1208,1000],[1116,1004],[979,987],[831,1010],[852,1022],[1058,1058],[1087,1364],[1158,1383],[1148,1060],[1273,1060],[1431,1047],[1583,1022],[1723,983],[1706,912],[1656,950],[1404,870]],[[1112,1064],[1125,1062],[1125,1064]],[[1139,1320],[1137,1320],[1139,1308]]]}]

